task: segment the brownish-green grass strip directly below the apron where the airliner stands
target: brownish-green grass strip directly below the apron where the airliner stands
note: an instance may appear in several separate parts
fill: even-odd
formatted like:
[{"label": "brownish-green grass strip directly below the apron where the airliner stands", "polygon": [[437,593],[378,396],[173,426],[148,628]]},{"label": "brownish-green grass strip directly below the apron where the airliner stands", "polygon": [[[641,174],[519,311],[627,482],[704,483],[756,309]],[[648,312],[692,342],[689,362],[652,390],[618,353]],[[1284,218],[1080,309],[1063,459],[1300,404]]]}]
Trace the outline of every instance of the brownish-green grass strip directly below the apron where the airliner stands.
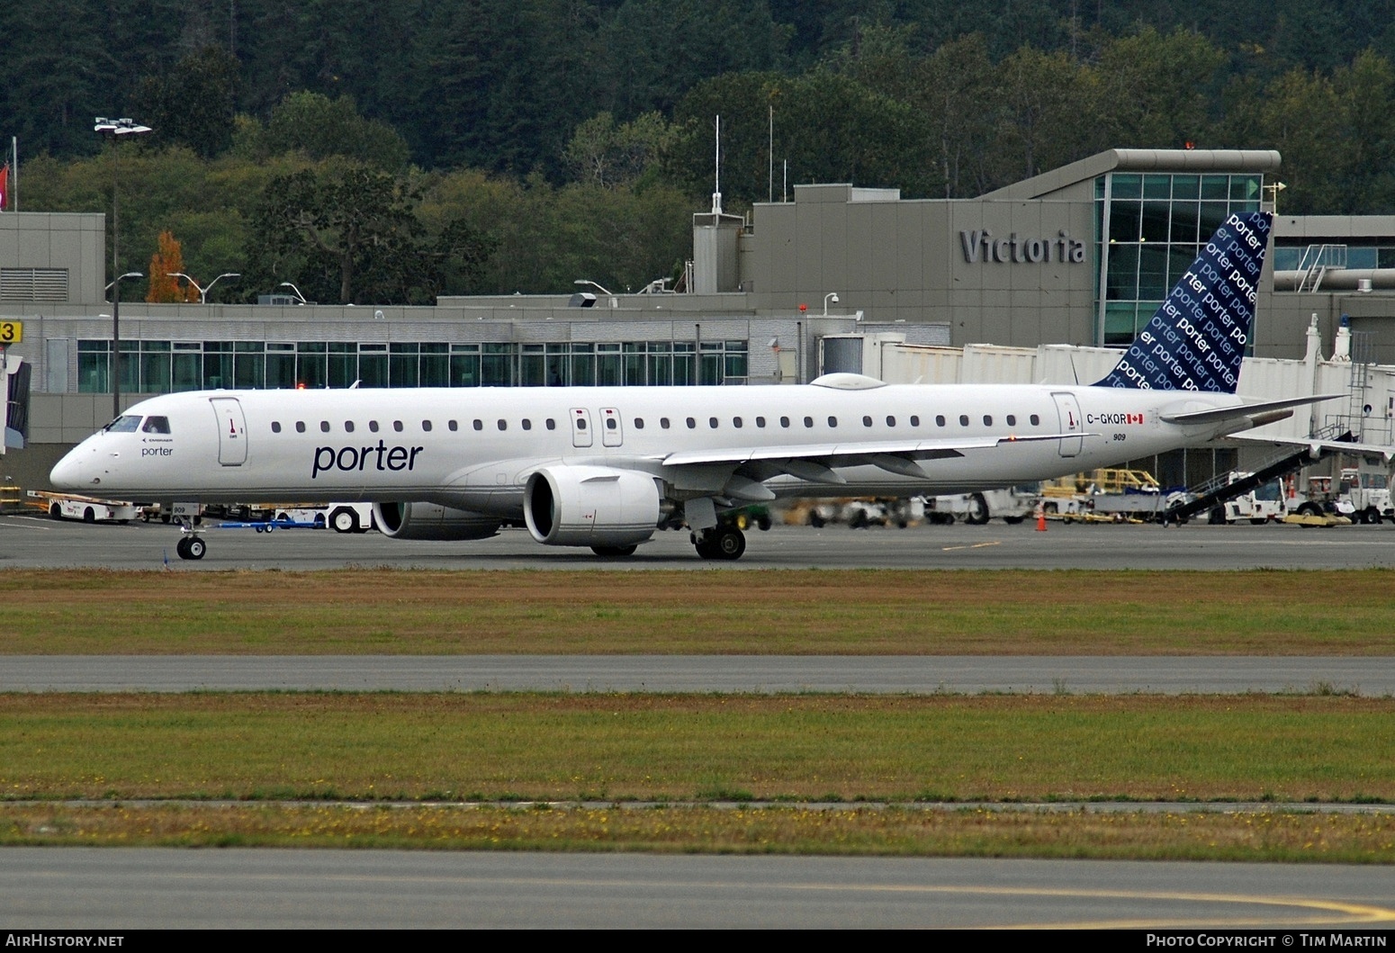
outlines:
[{"label": "brownish-green grass strip directly below the apron where the airliner stands", "polygon": [[0,654],[1395,656],[1392,592],[1388,569],[13,569]]}]

